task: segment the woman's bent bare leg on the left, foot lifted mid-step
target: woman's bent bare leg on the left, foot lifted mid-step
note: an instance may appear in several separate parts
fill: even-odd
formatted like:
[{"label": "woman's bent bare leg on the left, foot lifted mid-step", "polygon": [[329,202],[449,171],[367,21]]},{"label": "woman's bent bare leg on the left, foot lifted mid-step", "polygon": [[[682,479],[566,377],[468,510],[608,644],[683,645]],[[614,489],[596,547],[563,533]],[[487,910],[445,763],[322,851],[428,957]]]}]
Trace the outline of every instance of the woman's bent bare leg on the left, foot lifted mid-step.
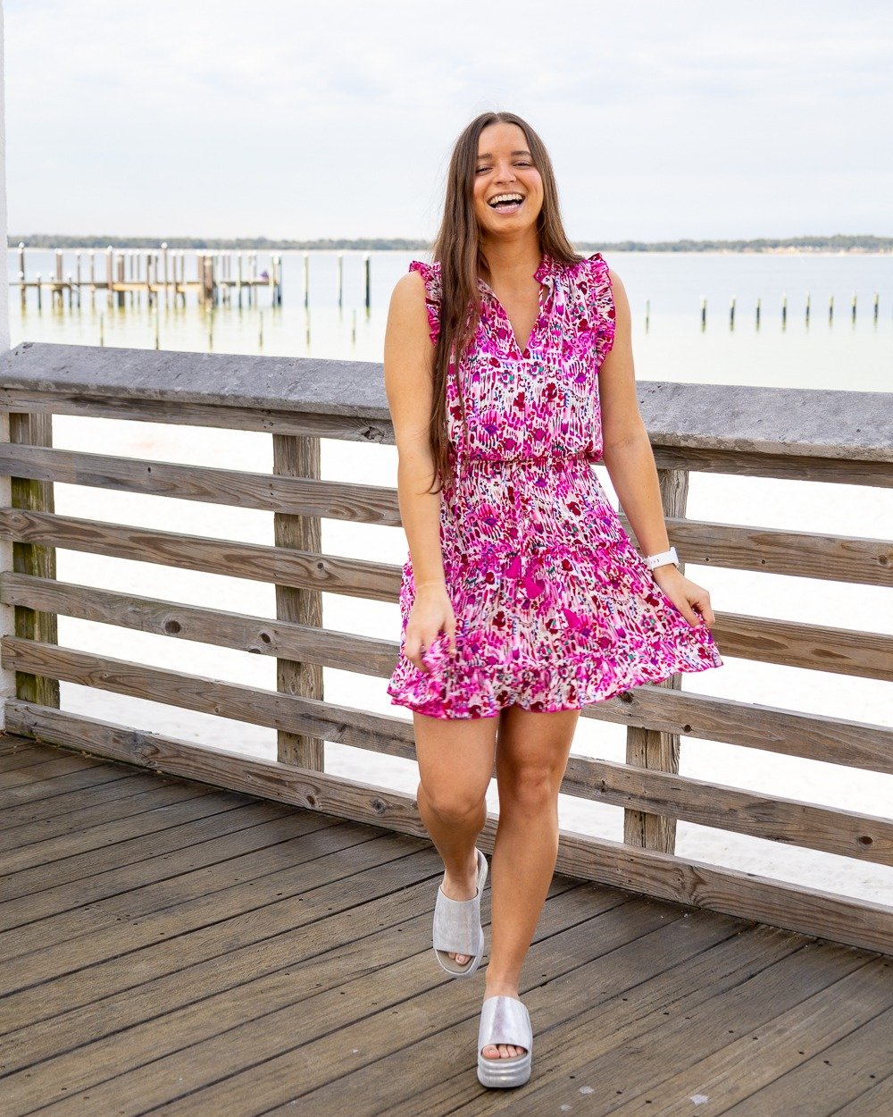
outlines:
[{"label": "woman's bent bare leg on the left, foot lifted mid-step", "polygon": [[[446,719],[414,713],[413,722],[421,775],[419,813],[443,859],[441,887],[452,900],[470,900],[478,888],[474,843],[487,821],[499,718]],[[448,953],[460,965],[470,957]]]}]

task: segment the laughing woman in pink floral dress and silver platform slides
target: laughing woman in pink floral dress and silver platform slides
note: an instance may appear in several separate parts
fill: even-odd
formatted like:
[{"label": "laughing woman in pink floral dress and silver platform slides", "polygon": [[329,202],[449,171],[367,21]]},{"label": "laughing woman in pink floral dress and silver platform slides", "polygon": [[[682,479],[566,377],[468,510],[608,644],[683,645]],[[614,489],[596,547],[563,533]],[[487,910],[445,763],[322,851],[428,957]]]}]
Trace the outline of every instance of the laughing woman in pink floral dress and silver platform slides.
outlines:
[{"label": "laughing woman in pink floral dress and silver platform slides", "polygon": [[387,693],[413,710],[419,811],[444,863],[434,953],[453,977],[483,953],[476,840],[496,758],[478,1078],[519,1086],[532,1048],[520,971],[580,707],[722,660],[710,595],[670,547],[623,284],[599,252],[574,251],[548,154],[515,114],[459,136],[433,262],[394,287],[384,371],[410,546]]}]

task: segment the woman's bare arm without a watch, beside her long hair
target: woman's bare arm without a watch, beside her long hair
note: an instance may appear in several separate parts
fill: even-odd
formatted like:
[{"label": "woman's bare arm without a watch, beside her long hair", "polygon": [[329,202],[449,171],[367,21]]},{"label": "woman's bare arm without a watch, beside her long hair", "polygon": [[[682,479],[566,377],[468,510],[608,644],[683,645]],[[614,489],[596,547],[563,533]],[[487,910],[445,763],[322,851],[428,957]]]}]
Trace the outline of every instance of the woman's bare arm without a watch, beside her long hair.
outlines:
[{"label": "woman's bare arm without a watch, beside her long hair", "polygon": [[397,446],[397,499],[416,588],[444,585],[440,545],[441,494],[429,493],[434,461],[429,445],[434,346],[424,280],[409,271],[394,286],[384,338],[384,383]]}]

